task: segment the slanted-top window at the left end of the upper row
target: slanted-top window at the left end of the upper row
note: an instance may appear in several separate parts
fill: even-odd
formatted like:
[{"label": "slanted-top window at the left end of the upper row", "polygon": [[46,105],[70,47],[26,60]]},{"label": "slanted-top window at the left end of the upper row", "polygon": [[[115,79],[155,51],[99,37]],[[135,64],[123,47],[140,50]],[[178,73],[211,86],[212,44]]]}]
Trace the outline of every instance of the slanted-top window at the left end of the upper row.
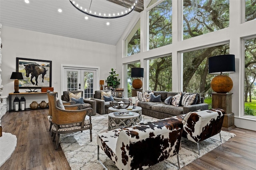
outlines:
[{"label": "slanted-top window at the left end of the upper row", "polygon": [[125,56],[140,53],[140,20],[125,40]]}]

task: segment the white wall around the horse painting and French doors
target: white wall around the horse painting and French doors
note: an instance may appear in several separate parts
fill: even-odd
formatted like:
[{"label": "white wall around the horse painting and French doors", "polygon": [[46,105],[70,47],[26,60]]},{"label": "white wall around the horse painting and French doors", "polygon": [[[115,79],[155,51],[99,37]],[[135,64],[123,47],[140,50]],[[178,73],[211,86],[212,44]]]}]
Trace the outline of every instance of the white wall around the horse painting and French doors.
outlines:
[{"label": "white wall around the horse painting and French doors", "polygon": [[[41,32],[34,32],[2,25],[2,84],[3,96],[14,91],[14,80],[10,79],[16,71],[16,57],[52,61],[52,87],[61,95],[60,65],[84,65],[100,67],[99,79],[105,80],[111,68],[116,67],[116,46],[89,42]],[[54,84],[57,81],[57,84]],[[98,86],[97,86],[98,87]],[[25,89],[20,89],[25,92]],[[26,100],[30,97],[25,97]],[[37,99],[38,98],[38,99]],[[42,96],[33,95],[40,101]],[[32,100],[32,99],[31,99]],[[32,102],[27,100],[26,105]],[[48,101],[46,97],[46,101]]]}]

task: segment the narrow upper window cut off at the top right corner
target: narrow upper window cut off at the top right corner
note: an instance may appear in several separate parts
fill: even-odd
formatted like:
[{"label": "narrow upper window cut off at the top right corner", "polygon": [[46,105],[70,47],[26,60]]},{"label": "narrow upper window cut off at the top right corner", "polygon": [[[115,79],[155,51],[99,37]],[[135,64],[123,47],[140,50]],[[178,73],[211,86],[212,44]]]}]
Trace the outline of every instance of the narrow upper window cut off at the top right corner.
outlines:
[{"label": "narrow upper window cut off at the top right corner", "polygon": [[245,21],[256,19],[256,0],[245,0]]}]

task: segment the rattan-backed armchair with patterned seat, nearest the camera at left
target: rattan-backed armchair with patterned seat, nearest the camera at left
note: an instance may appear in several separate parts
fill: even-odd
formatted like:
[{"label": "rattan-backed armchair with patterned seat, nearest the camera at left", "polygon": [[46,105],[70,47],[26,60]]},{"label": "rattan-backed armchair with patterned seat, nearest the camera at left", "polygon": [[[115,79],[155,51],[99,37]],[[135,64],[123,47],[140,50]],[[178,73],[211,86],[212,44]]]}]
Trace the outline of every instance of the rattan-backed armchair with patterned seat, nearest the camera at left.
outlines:
[{"label": "rattan-backed armchair with patterned seat, nearest the camera at left", "polygon": [[55,150],[58,149],[60,134],[90,130],[90,141],[92,141],[92,108],[82,110],[65,110],[57,106],[56,93],[49,93],[49,103],[52,108],[52,132]]}]

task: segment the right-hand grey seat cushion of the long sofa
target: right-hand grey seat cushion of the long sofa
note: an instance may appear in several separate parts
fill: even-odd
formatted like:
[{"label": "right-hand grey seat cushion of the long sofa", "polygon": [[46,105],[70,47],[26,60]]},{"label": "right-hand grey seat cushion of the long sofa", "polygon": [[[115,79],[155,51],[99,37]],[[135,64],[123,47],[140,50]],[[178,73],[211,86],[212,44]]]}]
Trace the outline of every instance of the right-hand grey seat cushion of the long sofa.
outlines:
[{"label": "right-hand grey seat cushion of the long sofa", "polygon": [[183,114],[183,107],[175,107],[173,105],[166,105],[165,103],[159,103],[158,105],[151,106],[152,111],[167,113],[171,115]]}]

